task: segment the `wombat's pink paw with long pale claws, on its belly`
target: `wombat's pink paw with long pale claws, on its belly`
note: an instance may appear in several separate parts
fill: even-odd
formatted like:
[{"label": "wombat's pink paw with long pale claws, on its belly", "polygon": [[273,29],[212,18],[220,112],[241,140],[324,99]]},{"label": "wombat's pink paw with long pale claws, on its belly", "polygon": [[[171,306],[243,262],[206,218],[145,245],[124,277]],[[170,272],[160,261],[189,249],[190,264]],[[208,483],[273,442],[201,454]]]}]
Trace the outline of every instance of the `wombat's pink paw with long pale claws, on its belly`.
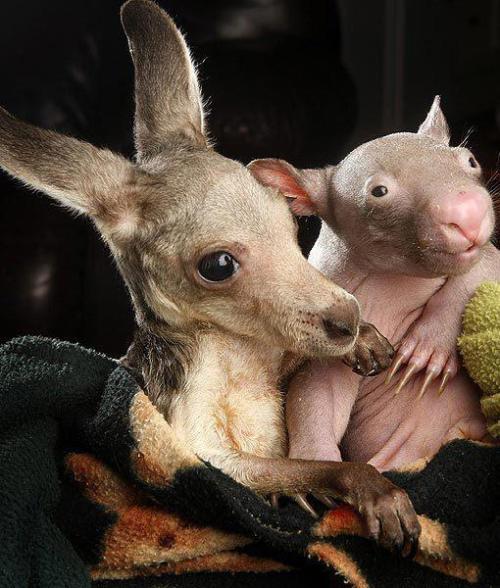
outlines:
[{"label": "wombat's pink paw with long pale claws, on its belly", "polygon": [[399,394],[410,379],[425,370],[425,378],[417,397],[421,398],[429,385],[439,376],[438,393],[442,394],[448,382],[457,374],[459,358],[457,337],[460,331],[460,313],[447,316],[446,311],[437,314],[429,310],[417,319],[401,340],[396,357],[385,383],[388,384],[401,366],[406,365],[395,394]]}]

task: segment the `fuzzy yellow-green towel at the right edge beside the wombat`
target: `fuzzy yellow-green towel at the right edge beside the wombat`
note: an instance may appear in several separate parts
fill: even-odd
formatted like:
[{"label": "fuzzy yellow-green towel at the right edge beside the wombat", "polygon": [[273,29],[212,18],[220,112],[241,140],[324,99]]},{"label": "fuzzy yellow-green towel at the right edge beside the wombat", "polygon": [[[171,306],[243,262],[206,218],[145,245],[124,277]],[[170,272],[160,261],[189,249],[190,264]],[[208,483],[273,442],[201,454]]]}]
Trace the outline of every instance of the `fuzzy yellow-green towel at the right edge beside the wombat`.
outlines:
[{"label": "fuzzy yellow-green towel at the right edge beside the wombat", "polygon": [[458,340],[464,365],[483,391],[488,430],[500,437],[500,282],[485,282],[465,309]]}]

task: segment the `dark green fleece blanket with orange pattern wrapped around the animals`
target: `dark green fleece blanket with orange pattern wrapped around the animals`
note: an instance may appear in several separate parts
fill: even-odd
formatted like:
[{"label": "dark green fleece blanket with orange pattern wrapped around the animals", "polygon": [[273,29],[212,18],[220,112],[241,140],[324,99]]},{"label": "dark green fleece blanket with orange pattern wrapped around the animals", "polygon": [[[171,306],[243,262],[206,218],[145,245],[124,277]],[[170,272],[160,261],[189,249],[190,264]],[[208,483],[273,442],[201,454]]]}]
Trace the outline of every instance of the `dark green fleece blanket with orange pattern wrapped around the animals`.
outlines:
[{"label": "dark green fleece blanket with orange pattern wrapped around the animals", "polygon": [[498,447],[455,441],[389,474],[421,513],[408,561],[347,507],[276,511],[201,462],[96,352],[14,340],[0,387],[1,588],[500,585]]}]

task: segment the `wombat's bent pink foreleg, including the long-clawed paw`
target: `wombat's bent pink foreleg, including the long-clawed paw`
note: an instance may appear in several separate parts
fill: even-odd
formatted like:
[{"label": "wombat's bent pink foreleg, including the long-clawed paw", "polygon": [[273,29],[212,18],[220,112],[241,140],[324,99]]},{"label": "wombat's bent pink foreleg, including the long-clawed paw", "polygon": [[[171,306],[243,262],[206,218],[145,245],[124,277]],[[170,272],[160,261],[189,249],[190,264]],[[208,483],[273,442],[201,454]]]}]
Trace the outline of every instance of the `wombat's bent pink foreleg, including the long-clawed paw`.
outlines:
[{"label": "wombat's bent pink foreleg, including the long-clawed paw", "polygon": [[386,382],[389,383],[399,368],[407,364],[397,390],[402,389],[414,374],[425,369],[426,377],[418,397],[440,375],[439,390],[443,392],[459,369],[457,337],[465,305],[476,288],[489,280],[500,280],[500,251],[491,243],[484,248],[480,260],[471,270],[448,278],[432,296],[401,340]]}]

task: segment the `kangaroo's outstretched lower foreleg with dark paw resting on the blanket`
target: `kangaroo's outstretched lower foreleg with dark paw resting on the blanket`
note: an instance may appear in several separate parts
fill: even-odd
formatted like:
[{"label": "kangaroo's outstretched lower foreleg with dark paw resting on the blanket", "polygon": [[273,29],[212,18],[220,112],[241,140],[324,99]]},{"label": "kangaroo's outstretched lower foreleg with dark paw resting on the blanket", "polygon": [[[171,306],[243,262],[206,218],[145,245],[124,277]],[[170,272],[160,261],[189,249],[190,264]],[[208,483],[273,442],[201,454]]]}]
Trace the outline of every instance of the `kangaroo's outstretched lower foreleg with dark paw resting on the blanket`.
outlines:
[{"label": "kangaroo's outstretched lower foreleg with dark paw resting on the blanket", "polygon": [[408,495],[368,464],[245,454],[238,469],[245,484],[262,494],[312,492],[350,504],[363,517],[368,536],[387,549],[414,551],[420,523]]}]

